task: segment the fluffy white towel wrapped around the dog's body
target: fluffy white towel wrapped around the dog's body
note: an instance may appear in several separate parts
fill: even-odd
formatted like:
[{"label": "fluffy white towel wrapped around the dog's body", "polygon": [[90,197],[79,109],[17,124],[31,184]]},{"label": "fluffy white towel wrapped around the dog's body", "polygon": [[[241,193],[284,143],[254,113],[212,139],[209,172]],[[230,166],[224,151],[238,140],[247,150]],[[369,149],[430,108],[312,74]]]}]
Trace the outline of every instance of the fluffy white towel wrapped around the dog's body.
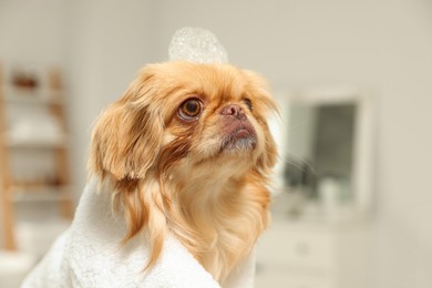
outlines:
[{"label": "fluffy white towel wrapped around the dog's body", "polygon": [[[89,184],[71,227],[55,240],[22,287],[220,287],[173,235],[166,238],[156,265],[143,271],[148,249],[137,238],[121,247],[125,233],[124,219],[111,213],[111,193],[96,193],[96,184]],[[254,274],[251,255],[224,287],[253,287]]]}]

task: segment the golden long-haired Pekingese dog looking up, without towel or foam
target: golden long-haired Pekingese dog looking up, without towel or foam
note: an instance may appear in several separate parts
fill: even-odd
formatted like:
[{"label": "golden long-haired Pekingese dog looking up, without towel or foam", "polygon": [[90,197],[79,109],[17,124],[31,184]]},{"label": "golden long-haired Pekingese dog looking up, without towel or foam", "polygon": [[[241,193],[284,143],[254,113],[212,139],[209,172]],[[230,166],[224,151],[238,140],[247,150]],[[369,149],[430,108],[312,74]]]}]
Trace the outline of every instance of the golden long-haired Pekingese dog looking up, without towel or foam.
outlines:
[{"label": "golden long-haired Pekingese dog looking up, without towel or foam", "polygon": [[[268,223],[277,110],[265,81],[229,64],[145,66],[93,131],[90,172],[158,259],[168,232],[224,284]],[[144,266],[145,264],[143,264]]]}]

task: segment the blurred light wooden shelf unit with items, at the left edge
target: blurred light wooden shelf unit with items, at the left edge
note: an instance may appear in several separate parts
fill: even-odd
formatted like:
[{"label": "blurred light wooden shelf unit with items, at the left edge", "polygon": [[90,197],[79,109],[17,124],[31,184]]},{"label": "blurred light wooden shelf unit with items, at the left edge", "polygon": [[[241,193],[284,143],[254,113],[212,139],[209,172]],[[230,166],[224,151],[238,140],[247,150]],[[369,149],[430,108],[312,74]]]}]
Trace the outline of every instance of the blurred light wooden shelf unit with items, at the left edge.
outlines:
[{"label": "blurred light wooden shelf unit with items, at the left edge", "polygon": [[[47,78],[39,75],[39,80],[43,81],[38,81],[39,86],[34,89],[17,88],[8,84],[12,81],[7,79],[6,75],[7,73],[0,63],[0,204],[2,206],[2,209],[0,209],[2,225],[0,227],[3,229],[0,235],[4,237],[4,248],[13,250],[17,249],[16,214],[20,213],[20,209],[16,207],[17,204],[49,203],[51,205],[52,203],[52,205],[59,207],[61,218],[71,220],[73,197],[71,195],[68,162],[68,125],[65,123],[64,95],[60,74],[56,71],[48,71]],[[30,120],[32,124],[30,128],[28,126],[17,128],[13,125],[20,125],[18,121],[22,121],[18,114],[14,114],[17,111],[24,116],[34,116],[39,113],[39,116],[42,115],[41,119],[49,119],[50,121],[52,119],[54,124],[49,126],[44,125],[43,121]],[[11,133],[12,128],[16,128],[16,136]],[[31,138],[30,134],[35,135],[35,137]],[[43,152],[49,150],[52,153],[40,153],[41,150]],[[13,157],[18,153],[25,152],[22,155],[27,157],[28,151],[34,151],[38,154],[38,161],[41,161],[39,154],[49,157],[48,161],[53,161],[53,172],[49,171],[47,178],[55,179],[55,185],[38,183],[37,179],[32,179],[32,183],[29,183],[28,179],[25,183],[17,181],[21,176],[13,175],[12,167],[16,163],[11,161],[16,160]],[[27,165],[27,161],[28,158],[25,158],[25,164],[21,163],[21,165]],[[27,168],[33,168],[34,172],[41,166],[43,165],[34,165],[34,167],[29,165]],[[14,173],[20,169],[13,169]],[[45,172],[43,171],[43,173]],[[38,173],[31,173],[30,175],[38,175]],[[38,213],[37,209],[41,205],[34,205],[33,207]]]}]

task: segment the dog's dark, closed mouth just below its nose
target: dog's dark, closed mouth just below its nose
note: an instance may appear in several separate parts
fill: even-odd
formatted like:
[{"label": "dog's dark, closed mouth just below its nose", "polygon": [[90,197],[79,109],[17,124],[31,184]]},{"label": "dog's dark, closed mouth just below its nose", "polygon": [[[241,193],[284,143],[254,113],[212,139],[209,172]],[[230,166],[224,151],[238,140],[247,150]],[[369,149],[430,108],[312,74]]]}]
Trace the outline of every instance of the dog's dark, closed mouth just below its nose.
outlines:
[{"label": "dog's dark, closed mouth just below its nose", "polygon": [[257,133],[249,121],[235,121],[223,130],[220,151],[249,151],[257,145]]}]

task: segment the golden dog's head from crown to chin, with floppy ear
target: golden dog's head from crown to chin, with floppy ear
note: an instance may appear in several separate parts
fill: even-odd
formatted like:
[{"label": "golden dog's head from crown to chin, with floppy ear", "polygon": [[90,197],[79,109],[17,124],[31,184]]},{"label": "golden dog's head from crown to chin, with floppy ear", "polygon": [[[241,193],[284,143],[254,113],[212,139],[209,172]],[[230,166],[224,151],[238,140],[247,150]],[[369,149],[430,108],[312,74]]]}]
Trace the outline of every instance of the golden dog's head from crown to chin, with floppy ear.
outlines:
[{"label": "golden dog's head from crown to chin, with floppy ear", "polygon": [[226,64],[148,65],[101,116],[91,168],[116,181],[265,172],[276,157],[266,122],[275,109],[253,72]]}]

